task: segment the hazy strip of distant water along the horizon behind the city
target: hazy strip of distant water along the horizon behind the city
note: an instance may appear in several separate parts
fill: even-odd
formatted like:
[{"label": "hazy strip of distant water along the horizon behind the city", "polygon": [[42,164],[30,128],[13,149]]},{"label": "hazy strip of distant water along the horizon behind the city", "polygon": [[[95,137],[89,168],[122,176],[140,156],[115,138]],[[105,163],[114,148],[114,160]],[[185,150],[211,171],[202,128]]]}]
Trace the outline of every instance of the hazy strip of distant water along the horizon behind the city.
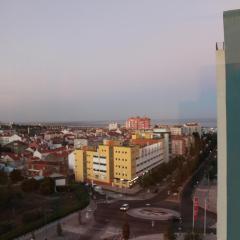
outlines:
[{"label": "hazy strip of distant water along the horizon behind the city", "polygon": [[[55,122],[53,125],[65,125],[68,127],[107,127],[110,122],[117,122],[120,125],[125,123],[125,120],[114,120],[114,121],[73,121],[73,122]],[[184,124],[189,122],[198,122],[202,127],[217,127],[216,119],[153,119],[152,125],[175,125]],[[47,123],[45,123],[47,124]]]}]

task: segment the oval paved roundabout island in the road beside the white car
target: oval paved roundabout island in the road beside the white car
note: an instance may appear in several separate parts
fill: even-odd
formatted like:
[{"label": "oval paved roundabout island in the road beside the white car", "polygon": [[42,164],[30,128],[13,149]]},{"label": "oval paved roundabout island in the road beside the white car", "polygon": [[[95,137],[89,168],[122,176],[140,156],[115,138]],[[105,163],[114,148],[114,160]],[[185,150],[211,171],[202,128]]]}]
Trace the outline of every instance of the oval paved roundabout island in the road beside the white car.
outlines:
[{"label": "oval paved roundabout island in the road beside the white car", "polygon": [[133,208],[128,210],[127,214],[135,218],[156,221],[167,221],[173,218],[180,218],[180,214],[176,211],[155,207]]}]

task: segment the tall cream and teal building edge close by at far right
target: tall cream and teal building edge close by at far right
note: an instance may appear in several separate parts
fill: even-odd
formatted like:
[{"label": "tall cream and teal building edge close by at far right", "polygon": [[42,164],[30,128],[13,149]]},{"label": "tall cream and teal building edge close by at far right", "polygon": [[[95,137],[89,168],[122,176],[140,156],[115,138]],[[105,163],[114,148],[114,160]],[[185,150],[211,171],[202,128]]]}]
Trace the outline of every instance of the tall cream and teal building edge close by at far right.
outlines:
[{"label": "tall cream and teal building edge close by at far right", "polygon": [[240,239],[240,10],[227,11],[224,45],[216,44],[219,240]]}]

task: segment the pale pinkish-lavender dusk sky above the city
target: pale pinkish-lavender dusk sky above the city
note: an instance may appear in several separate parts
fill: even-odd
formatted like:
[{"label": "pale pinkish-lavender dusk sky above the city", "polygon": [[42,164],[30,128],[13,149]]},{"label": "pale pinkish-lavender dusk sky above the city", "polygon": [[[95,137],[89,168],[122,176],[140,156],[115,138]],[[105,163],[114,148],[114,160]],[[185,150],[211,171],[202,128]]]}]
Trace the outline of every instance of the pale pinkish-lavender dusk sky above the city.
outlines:
[{"label": "pale pinkish-lavender dusk sky above the city", "polygon": [[215,118],[239,0],[0,0],[0,121]]}]

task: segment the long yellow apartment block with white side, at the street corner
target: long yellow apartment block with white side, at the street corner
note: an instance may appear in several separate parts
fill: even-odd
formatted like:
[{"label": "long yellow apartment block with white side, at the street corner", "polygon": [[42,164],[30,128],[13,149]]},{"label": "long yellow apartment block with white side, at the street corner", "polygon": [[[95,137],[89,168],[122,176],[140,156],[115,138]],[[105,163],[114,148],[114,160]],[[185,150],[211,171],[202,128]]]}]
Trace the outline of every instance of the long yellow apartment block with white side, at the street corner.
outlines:
[{"label": "long yellow apartment block with white side, at the street corner", "polygon": [[127,146],[99,145],[97,151],[75,150],[75,179],[119,188],[164,162],[163,139],[138,139]]}]

